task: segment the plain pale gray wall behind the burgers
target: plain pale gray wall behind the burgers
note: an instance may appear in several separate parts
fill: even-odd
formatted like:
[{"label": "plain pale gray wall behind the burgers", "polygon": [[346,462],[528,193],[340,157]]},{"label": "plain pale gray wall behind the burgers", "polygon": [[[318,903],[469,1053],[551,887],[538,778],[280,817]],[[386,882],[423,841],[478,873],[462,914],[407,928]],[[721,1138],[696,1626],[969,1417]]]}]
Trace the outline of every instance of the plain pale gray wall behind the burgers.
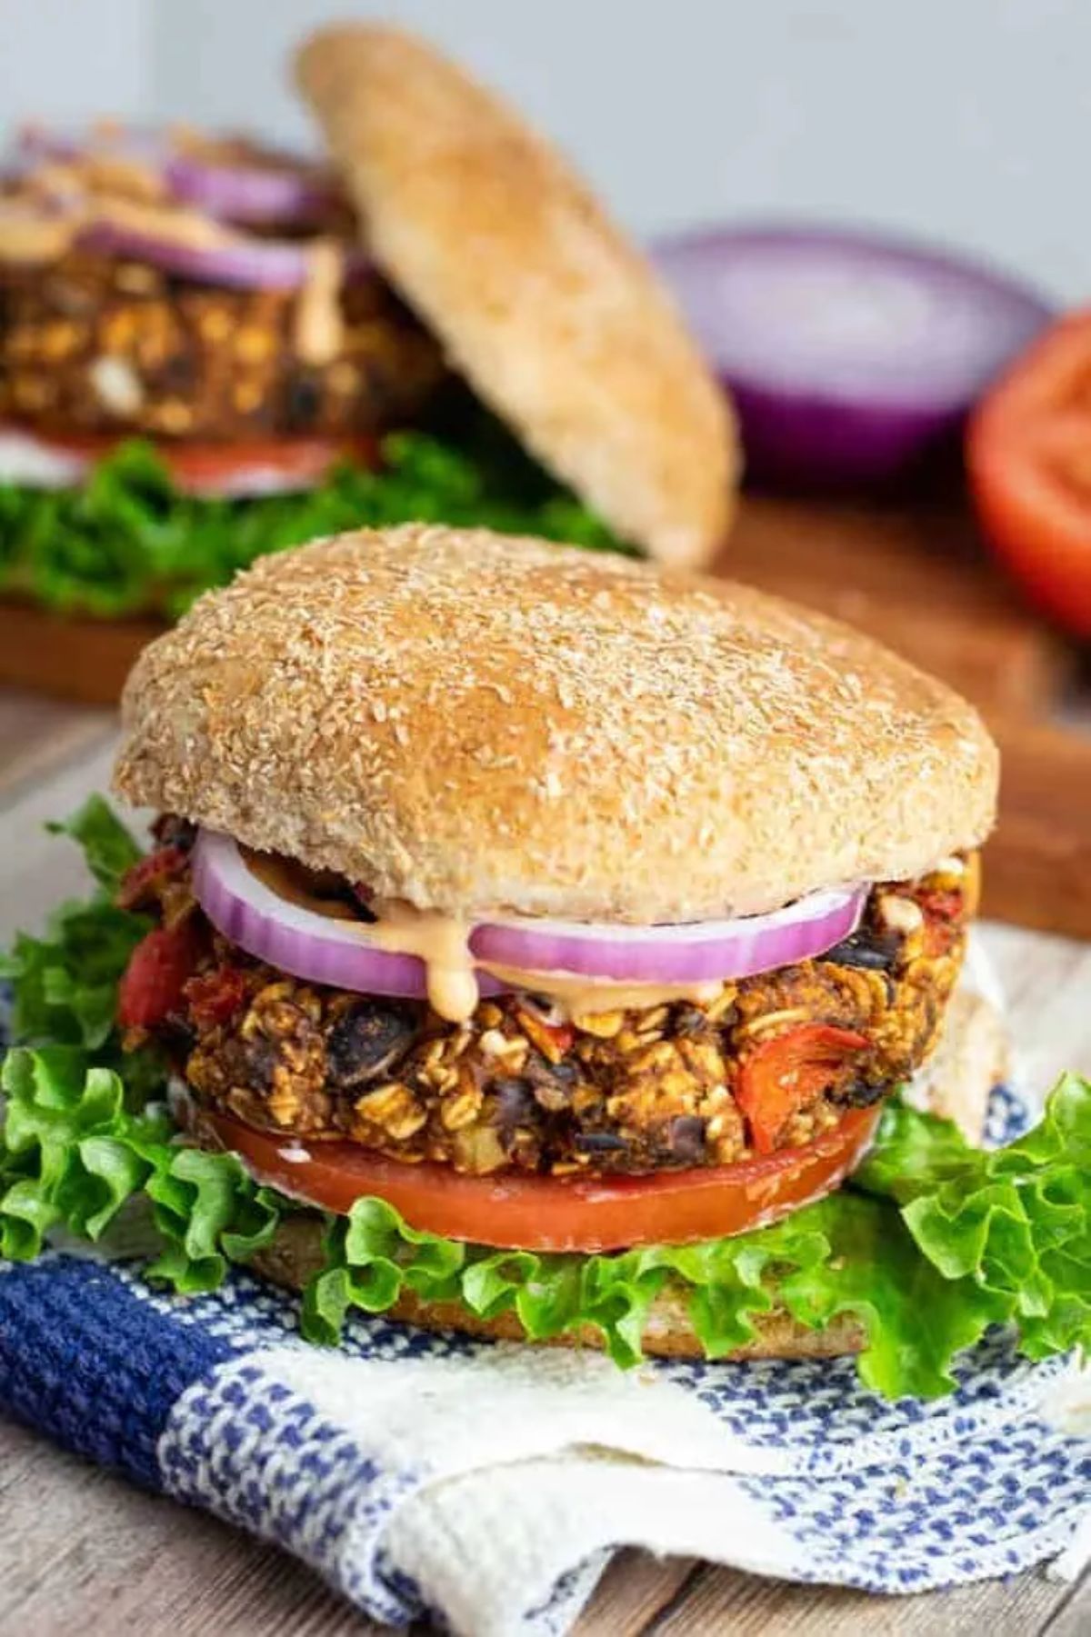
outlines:
[{"label": "plain pale gray wall behind the burgers", "polygon": [[1091,0],[0,0],[0,111],[306,138],[288,46],[352,13],[503,87],[639,232],[885,223],[1091,300]]}]

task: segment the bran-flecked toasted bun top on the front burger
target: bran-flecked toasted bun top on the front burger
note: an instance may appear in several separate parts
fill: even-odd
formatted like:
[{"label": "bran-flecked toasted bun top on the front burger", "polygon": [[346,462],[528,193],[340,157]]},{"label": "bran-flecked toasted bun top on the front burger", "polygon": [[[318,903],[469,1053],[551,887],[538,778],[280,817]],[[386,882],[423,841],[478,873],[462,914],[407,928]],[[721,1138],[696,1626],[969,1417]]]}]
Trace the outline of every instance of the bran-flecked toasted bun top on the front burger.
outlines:
[{"label": "bran-flecked toasted bun top on the front burger", "polygon": [[745,586],[408,524],[151,643],[116,789],[449,913],[678,922],[922,873],[993,822],[942,683]]}]

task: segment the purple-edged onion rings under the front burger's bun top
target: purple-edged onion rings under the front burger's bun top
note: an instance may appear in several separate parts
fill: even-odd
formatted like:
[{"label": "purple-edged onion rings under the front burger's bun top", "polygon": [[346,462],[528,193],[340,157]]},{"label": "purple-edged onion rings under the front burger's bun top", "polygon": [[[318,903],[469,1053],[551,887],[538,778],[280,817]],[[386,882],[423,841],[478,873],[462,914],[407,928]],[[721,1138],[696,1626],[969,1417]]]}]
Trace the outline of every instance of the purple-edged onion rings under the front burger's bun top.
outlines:
[{"label": "purple-edged onion rings under the front burger's bun top", "polygon": [[[347,925],[278,897],[247,869],[236,843],[201,830],[193,891],[211,923],[247,954],[295,977],[362,994],[426,994],[424,963],[369,943],[367,925]],[[491,920],[470,933],[478,967],[536,977],[624,984],[699,984],[752,977],[822,954],[860,920],[865,887],[814,892],[768,915],[677,927],[606,927],[580,922]],[[511,989],[480,972],[483,994]]]}]

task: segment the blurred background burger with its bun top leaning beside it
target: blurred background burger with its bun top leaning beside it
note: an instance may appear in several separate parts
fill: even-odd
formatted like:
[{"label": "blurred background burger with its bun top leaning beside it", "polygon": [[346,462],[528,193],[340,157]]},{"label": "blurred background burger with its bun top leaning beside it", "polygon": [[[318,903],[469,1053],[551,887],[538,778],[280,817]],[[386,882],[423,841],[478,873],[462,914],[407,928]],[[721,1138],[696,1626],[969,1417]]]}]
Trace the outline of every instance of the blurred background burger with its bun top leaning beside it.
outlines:
[{"label": "blurred background burger with its bun top leaning beside it", "polygon": [[0,589],[180,612],[256,555],[419,517],[678,563],[729,409],[650,267],[431,46],[297,57],[316,165],[188,128],[25,133],[0,188]]}]

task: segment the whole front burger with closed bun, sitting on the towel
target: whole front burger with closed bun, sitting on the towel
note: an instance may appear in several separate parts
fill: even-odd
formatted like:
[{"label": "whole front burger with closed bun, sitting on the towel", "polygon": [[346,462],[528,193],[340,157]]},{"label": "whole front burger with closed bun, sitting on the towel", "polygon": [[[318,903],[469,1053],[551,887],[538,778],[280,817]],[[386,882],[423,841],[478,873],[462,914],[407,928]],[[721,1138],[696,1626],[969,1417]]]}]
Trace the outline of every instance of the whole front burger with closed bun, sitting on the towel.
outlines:
[{"label": "whole front burger with closed bun, sitting on the towel", "polygon": [[996,1152],[906,1092],[996,773],[744,586],[429,524],[265,557],[126,686],[151,851],[92,800],[97,894],[5,966],[2,1254],[144,1213],[147,1277],[244,1264],[316,1341],[860,1351],[894,1396],[996,1323],[1088,1346],[1091,1087]]}]

